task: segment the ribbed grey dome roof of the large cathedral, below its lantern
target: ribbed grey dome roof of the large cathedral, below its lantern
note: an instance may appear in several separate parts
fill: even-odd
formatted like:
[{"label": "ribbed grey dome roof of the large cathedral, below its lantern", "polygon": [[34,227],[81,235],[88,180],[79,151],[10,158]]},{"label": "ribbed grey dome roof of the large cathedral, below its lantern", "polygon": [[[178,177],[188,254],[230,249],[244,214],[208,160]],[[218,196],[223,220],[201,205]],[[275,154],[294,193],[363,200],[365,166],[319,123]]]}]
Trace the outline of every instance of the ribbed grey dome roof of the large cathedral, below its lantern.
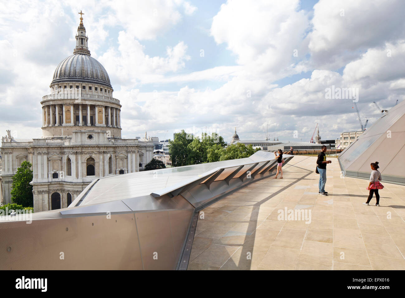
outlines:
[{"label": "ribbed grey dome roof of the large cathedral, below its lantern", "polygon": [[73,54],[59,63],[53,73],[51,84],[64,81],[101,84],[112,88],[104,66],[96,59],[85,54]]}]

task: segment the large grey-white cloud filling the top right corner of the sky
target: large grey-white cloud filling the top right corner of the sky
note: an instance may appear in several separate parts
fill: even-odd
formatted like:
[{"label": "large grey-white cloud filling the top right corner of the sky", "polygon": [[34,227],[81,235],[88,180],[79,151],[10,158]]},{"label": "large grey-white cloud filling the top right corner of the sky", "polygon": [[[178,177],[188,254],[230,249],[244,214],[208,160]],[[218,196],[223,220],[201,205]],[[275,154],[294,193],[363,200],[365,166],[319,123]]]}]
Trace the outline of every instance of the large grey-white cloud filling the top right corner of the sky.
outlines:
[{"label": "large grey-white cloud filling the top right corner of the sky", "polygon": [[404,34],[401,0],[320,0],[313,9],[309,49],[315,67],[338,69]]}]

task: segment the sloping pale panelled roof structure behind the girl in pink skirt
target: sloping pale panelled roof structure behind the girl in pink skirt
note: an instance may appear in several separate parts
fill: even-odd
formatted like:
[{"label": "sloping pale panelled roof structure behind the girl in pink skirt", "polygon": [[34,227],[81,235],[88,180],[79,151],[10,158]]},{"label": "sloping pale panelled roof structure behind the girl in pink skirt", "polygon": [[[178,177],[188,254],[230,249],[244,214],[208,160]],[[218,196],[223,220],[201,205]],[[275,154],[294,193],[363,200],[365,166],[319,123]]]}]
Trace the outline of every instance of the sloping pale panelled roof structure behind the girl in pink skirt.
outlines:
[{"label": "sloping pale panelled roof structure behind the girl in pink skirt", "polygon": [[345,176],[369,179],[379,162],[382,181],[405,185],[405,101],[392,107],[339,154]]}]

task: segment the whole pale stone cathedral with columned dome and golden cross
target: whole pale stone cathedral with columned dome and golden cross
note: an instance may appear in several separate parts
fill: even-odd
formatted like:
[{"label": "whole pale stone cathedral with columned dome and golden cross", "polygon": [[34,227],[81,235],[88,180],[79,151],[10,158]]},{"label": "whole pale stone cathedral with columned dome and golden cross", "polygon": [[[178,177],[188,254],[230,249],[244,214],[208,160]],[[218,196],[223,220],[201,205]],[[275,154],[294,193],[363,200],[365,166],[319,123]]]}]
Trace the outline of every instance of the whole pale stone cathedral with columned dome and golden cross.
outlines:
[{"label": "whole pale stone cathedral with columned dome and golden cross", "polygon": [[[143,170],[153,142],[121,138],[121,105],[104,67],[90,56],[83,18],[73,55],[56,67],[42,98],[42,138],[2,137],[0,202],[11,203],[12,177],[32,164],[34,212],[66,208],[94,179]],[[113,195],[113,194],[111,194]]]}]

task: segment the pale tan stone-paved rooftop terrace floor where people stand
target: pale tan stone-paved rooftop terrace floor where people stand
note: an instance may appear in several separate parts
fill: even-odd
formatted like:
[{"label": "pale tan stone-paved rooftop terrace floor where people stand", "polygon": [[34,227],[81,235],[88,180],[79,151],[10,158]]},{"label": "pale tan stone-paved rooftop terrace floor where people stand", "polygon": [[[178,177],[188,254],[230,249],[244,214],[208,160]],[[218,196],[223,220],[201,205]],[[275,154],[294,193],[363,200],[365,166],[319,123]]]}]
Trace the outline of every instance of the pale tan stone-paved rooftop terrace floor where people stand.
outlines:
[{"label": "pale tan stone-paved rooftop terrace floor where people stand", "polygon": [[[383,183],[380,207],[364,206],[367,180],[342,178],[332,159],[321,196],[315,163],[295,156],[284,179],[259,180],[203,209],[188,270],[405,270],[405,187]],[[311,210],[310,223],[278,220],[285,208]]]}]

